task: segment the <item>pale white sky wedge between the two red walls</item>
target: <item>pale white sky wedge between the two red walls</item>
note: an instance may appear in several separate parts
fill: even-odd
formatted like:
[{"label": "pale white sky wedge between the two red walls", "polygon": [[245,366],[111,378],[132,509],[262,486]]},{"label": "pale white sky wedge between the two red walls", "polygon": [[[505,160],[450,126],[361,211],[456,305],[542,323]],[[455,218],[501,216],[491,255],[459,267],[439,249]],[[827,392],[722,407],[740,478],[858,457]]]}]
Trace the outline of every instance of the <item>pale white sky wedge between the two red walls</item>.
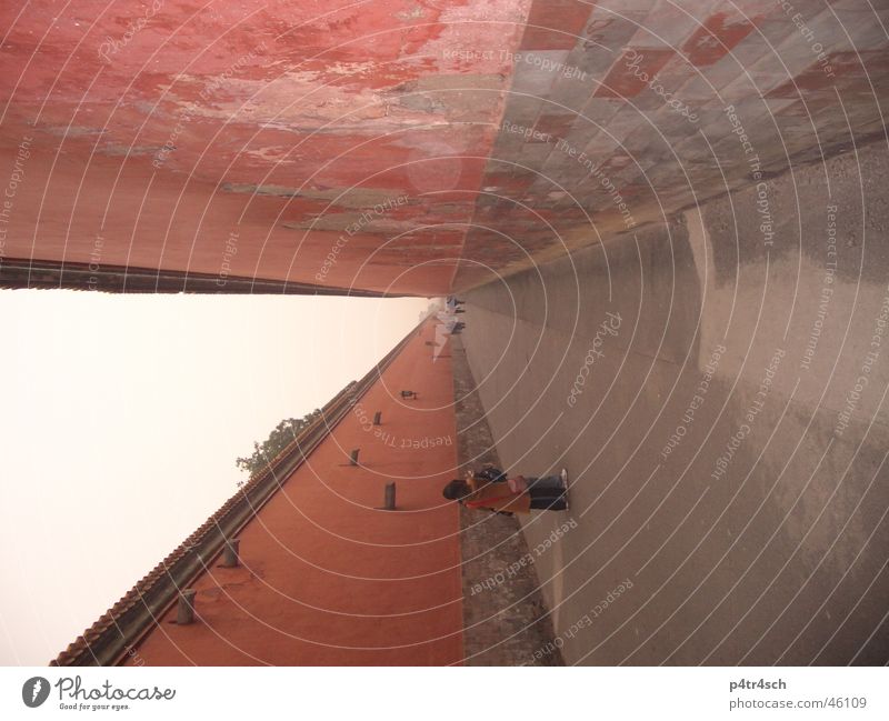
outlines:
[{"label": "pale white sky wedge between the two red walls", "polygon": [[427,306],[0,291],[0,664],[53,659]]}]

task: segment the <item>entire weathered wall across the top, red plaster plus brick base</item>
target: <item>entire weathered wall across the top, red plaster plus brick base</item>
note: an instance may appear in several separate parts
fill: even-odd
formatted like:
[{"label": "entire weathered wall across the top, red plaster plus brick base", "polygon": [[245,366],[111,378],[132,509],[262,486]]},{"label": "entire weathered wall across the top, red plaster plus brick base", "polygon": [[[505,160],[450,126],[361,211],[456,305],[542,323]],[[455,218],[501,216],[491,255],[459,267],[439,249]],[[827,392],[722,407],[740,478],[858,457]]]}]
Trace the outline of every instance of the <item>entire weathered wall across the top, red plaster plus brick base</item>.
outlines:
[{"label": "entire weathered wall across the top, red plaster plus brick base", "polygon": [[0,258],[220,280],[487,282],[880,133],[889,82],[857,0],[24,8]]}]

